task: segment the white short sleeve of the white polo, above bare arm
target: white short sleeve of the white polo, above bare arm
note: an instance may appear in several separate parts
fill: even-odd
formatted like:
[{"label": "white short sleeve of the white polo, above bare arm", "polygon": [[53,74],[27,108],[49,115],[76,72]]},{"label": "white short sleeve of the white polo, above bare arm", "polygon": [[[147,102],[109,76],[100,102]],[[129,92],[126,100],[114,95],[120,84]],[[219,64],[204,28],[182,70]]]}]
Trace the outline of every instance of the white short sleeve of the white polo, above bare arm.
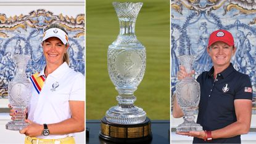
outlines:
[{"label": "white short sleeve of the white polo, above bare arm", "polygon": [[78,73],[74,79],[69,100],[85,101],[85,76]]}]

